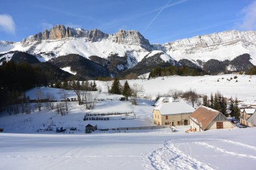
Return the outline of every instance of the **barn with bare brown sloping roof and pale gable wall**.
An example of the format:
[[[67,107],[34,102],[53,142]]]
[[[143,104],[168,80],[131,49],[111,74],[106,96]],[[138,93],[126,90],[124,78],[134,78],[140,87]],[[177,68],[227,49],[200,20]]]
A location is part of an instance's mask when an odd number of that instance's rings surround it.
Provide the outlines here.
[[[198,107],[189,118],[191,129],[195,131],[236,127],[221,112],[203,105]]]

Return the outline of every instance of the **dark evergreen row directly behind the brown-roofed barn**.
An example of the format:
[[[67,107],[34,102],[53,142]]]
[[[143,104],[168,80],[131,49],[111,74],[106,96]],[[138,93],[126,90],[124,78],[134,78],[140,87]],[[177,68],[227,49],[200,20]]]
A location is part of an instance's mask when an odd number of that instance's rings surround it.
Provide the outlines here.
[[[237,120],[240,116],[240,109],[238,107],[238,99],[237,97],[235,100],[230,97],[227,99],[220,92],[216,92],[214,95],[210,94],[208,97],[207,95],[203,96],[203,105],[205,107],[212,108],[216,111],[221,112],[226,117],[230,114],[230,117],[235,117]]]

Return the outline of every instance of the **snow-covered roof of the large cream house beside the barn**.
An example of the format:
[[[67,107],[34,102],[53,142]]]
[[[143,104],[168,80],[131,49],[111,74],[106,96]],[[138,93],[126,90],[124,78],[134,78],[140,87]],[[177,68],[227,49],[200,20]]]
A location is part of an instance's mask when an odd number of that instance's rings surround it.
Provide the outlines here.
[[[184,103],[183,101],[162,103],[158,107],[156,107],[155,110],[158,110],[162,115],[192,113],[193,111],[195,111],[193,107],[191,107],[187,103]]]

